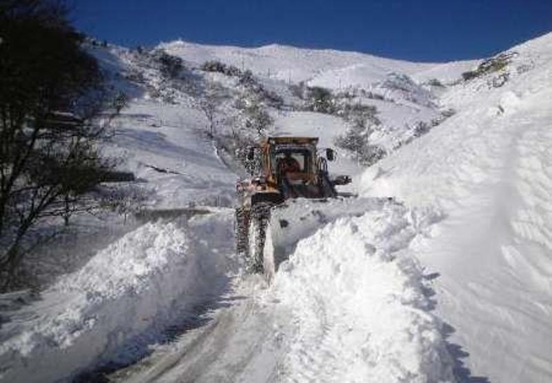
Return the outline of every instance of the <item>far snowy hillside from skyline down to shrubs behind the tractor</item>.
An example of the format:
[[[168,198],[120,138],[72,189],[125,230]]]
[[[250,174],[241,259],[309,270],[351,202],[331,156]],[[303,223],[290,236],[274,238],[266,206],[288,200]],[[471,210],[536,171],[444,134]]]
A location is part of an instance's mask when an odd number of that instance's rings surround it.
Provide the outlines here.
[[[298,100],[288,95],[288,88],[297,84],[327,88],[337,97],[346,95],[349,104],[374,106],[382,124],[373,126],[375,131],[366,134],[386,150],[408,141],[420,122],[431,124],[442,118],[446,108],[433,92],[428,91],[428,81],[449,84],[478,63],[474,60],[411,63],[357,52],[309,50],[277,44],[238,48],[174,41],[161,43],[159,47],[183,59],[190,68],[198,68],[207,61],[220,61],[237,69],[250,70],[263,86],[282,95],[292,108],[297,108]],[[324,125],[320,127],[325,129]],[[333,132],[331,137],[335,136]]]

